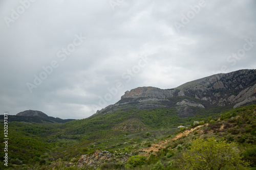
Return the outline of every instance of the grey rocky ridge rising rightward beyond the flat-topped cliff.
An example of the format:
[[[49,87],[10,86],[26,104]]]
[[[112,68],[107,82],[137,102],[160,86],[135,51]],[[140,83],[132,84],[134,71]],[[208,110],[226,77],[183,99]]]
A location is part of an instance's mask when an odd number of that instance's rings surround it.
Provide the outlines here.
[[[229,106],[254,102],[256,69],[244,69],[228,74],[218,74],[185,83],[176,89],[211,105]]]

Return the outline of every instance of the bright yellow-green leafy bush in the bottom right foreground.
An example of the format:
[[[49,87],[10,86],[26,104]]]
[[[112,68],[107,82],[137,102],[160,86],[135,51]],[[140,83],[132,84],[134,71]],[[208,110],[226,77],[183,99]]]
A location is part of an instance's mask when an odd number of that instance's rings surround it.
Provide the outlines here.
[[[181,169],[245,169],[249,163],[242,160],[237,143],[216,141],[214,137],[207,140],[196,139],[191,147],[183,151],[177,163]]]

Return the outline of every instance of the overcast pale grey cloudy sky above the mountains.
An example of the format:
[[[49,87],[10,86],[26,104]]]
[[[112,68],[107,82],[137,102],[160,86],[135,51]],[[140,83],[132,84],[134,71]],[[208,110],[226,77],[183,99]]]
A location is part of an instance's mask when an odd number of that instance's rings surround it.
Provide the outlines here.
[[[256,68],[256,1],[0,1],[0,114],[82,119],[125,91]]]

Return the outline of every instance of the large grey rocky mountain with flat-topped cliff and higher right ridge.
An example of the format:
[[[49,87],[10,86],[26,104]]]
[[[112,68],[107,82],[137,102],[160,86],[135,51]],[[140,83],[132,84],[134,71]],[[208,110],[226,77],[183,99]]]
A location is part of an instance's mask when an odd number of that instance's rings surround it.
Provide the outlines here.
[[[194,116],[196,108],[236,108],[256,103],[256,69],[243,69],[187,82],[172,89],[138,87],[121,100],[97,111],[112,113],[129,109],[175,107],[179,116]]]

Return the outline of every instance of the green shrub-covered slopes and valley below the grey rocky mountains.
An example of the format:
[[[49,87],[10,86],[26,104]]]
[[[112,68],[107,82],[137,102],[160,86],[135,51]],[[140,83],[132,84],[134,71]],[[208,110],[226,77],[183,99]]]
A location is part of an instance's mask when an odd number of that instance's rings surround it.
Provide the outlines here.
[[[216,155],[210,149],[220,150],[214,159],[215,167],[253,167],[256,166],[255,113],[256,106],[251,105],[181,118],[172,108],[159,108],[98,114],[58,124],[9,122],[8,163],[12,169],[94,169],[87,164],[76,166],[80,156],[91,157],[96,151],[108,151],[115,156],[105,158],[97,168],[180,169],[188,165],[185,160],[191,155],[195,159],[190,162],[199,158],[195,152],[200,149],[199,143],[203,143],[200,151],[207,151],[205,160],[209,153]],[[3,127],[3,122],[0,124]],[[185,128],[177,128],[180,125]],[[3,134],[2,129],[0,132]],[[4,148],[4,141],[0,140]],[[223,156],[222,151],[229,155]],[[0,154],[3,167],[3,151]],[[202,157],[205,153],[200,154]],[[225,157],[233,158],[236,164]],[[180,167],[182,161],[184,167]],[[224,163],[217,165],[219,161]]]

